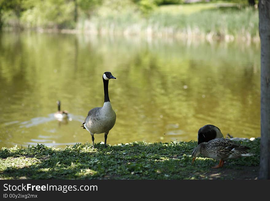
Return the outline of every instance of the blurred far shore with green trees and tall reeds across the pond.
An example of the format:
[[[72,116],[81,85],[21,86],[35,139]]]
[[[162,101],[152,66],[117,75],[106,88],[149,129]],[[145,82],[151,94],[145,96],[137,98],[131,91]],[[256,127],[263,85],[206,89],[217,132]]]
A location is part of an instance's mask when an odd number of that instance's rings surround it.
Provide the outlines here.
[[[258,38],[256,5],[254,0],[0,0],[0,28]]]

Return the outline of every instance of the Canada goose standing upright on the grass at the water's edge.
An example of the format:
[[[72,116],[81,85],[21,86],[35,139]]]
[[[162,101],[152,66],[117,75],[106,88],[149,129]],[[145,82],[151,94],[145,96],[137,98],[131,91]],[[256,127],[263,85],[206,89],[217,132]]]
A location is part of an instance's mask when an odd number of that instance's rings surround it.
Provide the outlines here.
[[[86,129],[90,132],[92,136],[93,148],[94,146],[94,134],[105,133],[105,147],[107,142],[107,136],[110,131],[114,127],[116,121],[116,114],[111,106],[109,93],[108,93],[108,85],[110,79],[116,79],[111,72],[103,73],[102,80],[104,86],[104,104],[103,107],[95,107],[91,109],[87,117],[85,118],[83,125],[83,129]]]

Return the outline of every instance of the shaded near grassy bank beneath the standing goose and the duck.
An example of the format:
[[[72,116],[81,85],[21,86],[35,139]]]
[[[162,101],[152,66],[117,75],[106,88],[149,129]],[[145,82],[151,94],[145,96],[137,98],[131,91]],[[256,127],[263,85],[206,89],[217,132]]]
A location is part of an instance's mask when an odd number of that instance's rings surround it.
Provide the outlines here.
[[[1,179],[255,179],[260,163],[260,140],[237,142],[254,156],[218,162],[198,157],[191,165],[197,142],[134,142],[104,148],[75,144],[65,148],[42,144],[28,148],[2,148]]]

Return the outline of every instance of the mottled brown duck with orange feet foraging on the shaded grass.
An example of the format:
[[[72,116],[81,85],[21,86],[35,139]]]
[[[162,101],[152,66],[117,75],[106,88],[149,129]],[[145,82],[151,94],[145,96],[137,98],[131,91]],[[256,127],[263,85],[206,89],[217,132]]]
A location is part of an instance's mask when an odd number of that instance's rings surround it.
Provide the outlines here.
[[[204,157],[220,160],[217,166],[212,167],[219,168],[223,166],[224,160],[252,156],[253,154],[248,153],[249,149],[249,147],[235,144],[229,139],[218,138],[210,140],[209,142],[200,143],[194,148],[192,151],[192,164],[199,154],[203,154]]]

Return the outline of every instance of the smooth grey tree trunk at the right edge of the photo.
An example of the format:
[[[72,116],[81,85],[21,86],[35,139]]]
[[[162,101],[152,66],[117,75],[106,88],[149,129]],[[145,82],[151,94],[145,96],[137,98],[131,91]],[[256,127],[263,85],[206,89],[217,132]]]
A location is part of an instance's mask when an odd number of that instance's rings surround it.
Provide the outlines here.
[[[259,1],[261,50],[260,75],[260,173],[259,179],[270,179],[270,1]]]

